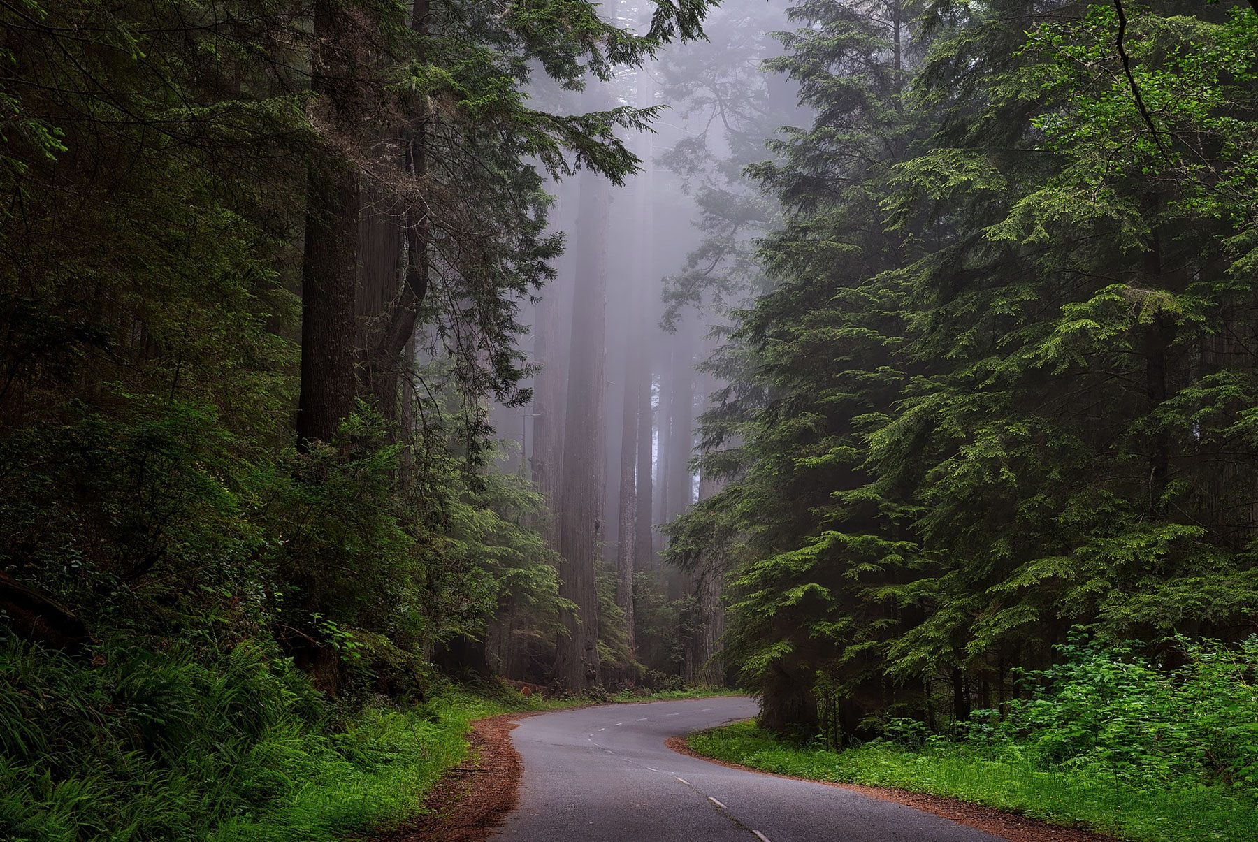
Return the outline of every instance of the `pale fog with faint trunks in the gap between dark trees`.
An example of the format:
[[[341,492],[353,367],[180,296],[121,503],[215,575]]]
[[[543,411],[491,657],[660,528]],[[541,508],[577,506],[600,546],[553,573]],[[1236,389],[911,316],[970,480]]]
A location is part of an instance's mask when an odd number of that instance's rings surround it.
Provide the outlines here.
[[[633,25],[638,10],[619,14]],[[491,415],[515,442],[503,467],[536,482],[552,512],[561,595],[579,607],[564,618],[570,637],[554,672],[570,687],[633,683],[634,658],[687,680],[723,678],[718,565],[667,568],[657,527],[718,487],[693,458],[697,419],[723,384],[697,366],[720,349],[728,310],[764,283],[751,254],[775,208],[742,167],[770,156],[765,141],[781,126],[805,122],[793,86],[760,67],[781,52],[770,33],[788,26],[784,6],[740,0],[712,13],[707,42],[669,45],[580,93],[535,93],[570,112],[665,106],[653,133],[624,137],[642,161],[624,185],[587,171],[550,185],[566,249],[523,320],[532,400]],[[581,620],[599,610],[599,569],[614,570],[623,614],[600,618],[604,638],[609,624],[623,628],[615,665],[598,662],[598,624]],[[523,676],[540,656],[513,646],[504,623],[491,660]]]

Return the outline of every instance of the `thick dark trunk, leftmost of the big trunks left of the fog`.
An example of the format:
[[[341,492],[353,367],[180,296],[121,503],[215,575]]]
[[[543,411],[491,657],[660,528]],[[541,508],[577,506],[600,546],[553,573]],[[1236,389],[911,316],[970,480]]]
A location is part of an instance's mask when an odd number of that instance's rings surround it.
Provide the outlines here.
[[[335,4],[314,6],[311,91],[335,122],[352,118],[351,21]],[[353,410],[353,297],[359,268],[359,176],[327,150],[309,167],[302,262],[302,370],[297,442],[331,442]]]

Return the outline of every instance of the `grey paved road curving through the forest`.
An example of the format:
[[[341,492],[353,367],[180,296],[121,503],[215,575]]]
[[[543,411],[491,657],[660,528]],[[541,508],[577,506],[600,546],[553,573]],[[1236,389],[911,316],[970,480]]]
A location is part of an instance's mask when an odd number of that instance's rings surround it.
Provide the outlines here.
[[[727,769],[664,739],[756,714],[749,699],[613,705],[522,720],[506,842],[1000,842],[903,804]]]

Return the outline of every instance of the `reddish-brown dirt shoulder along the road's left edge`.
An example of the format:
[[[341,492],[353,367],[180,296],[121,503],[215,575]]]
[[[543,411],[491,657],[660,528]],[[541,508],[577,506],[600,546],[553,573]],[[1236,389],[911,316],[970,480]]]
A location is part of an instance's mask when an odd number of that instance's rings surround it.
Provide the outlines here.
[[[482,842],[516,808],[523,765],[511,730],[526,714],[502,714],[472,724],[468,759],[454,766],[424,799],[418,819],[376,842]]]

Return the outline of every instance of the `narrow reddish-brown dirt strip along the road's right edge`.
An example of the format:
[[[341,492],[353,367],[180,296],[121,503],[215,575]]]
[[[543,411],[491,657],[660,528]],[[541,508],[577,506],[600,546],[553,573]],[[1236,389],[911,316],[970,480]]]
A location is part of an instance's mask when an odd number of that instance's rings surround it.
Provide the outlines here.
[[[772,774],[770,772],[752,769],[751,766],[743,766],[737,763],[726,763],[725,760],[713,760],[712,758],[703,756],[697,751],[692,751],[691,746],[686,745],[686,739],[681,736],[671,736],[664,741],[664,744],[678,754],[686,754],[692,758],[707,760],[708,763],[716,763],[731,769],[746,769],[747,772],[755,772],[761,775]],[[809,778],[795,778],[794,775],[774,777],[790,778],[793,780],[809,780]],[[820,783],[838,789],[850,789],[860,793],[862,795],[871,795],[883,800],[908,804],[910,807],[915,807],[925,813],[942,816],[944,818],[951,819],[957,824],[965,824],[982,831],[984,833],[999,836],[1009,839],[1009,842],[1116,842],[1112,836],[1102,836],[1099,833],[1092,833],[1091,831],[1083,831],[1079,828],[1049,824],[1048,822],[1042,822],[1037,818],[1027,818],[1025,816],[1001,813],[1000,811],[991,809],[990,807],[969,804],[962,800],[956,800],[955,798],[925,795],[922,793],[911,793],[905,789],[883,789],[881,787],[862,787],[859,784],[839,784],[830,780],[814,780],[813,783]]]

